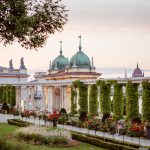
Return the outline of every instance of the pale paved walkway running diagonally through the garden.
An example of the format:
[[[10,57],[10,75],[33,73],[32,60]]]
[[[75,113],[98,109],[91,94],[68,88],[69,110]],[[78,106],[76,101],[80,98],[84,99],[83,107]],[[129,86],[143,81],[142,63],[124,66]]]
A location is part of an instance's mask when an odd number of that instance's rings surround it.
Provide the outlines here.
[[[7,119],[12,119],[14,118],[13,115],[5,115],[5,114],[0,114],[0,122],[7,122]],[[17,117],[16,117],[17,118]],[[18,117],[21,119],[21,117]],[[26,121],[26,119],[24,118],[24,120]],[[33,118],[27,119],[28,122],[34,122]],[[39,120],[36,119],[35,120],[35,124],[39,124]],[[40,120],[40,125],[44,125],[44,121]],[[104,132],[100,132],[97,131],[95,132],[94,130],[88,130],[85,128],[78,128],[78,127],[73,127],[73,126],[68,126],[68,125],[58,125],[58,127],[60,128],[65,128],[71,131],[76,131],[79,133],[86,133],[86,134],[90,134],[90,135],[97,135],[97,136],[101,136],[103,138],[111,138],[111,139],[115,139],[118,141],[125,141],[125,142],[129,142],[129,143],[135,143],[135,144],[140,144],[141,146],[150,146],[150,140],[148,139],[143,139],[143,138],[132,138],[132,137],[128,137],[128,136],[122,136],[122,135],[112,135],[109,133],[104,133]]]

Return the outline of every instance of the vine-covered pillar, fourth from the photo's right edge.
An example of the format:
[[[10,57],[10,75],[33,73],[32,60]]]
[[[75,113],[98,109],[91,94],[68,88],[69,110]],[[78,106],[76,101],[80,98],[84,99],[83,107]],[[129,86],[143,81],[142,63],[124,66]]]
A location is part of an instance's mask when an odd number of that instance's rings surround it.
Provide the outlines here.
[[[111,85],[106,84],[105,81],[98,81],[98,85],[100,85],[100,108],[101,112],[110,113],[111,110],[111,100],[110,100],[110,92],[111,92]]]

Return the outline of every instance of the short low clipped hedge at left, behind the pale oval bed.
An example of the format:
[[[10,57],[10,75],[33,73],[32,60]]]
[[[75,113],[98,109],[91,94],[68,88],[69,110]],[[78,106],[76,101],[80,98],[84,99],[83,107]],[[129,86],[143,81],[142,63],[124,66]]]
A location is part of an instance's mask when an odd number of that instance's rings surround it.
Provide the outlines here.
[[[7,119],[7,122],[8,124],[19,126],[19,127],[27,127],[29,125],[32,125],[32,123],[28,123],[20,119]]]

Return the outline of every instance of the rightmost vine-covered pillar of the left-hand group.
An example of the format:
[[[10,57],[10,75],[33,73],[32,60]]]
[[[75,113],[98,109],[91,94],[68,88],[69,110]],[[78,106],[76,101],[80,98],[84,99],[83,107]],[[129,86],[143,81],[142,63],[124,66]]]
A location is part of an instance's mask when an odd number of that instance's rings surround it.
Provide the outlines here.
[[[16,87],[12,86],[10,89],[10,105],[14,107],[16,105]]]

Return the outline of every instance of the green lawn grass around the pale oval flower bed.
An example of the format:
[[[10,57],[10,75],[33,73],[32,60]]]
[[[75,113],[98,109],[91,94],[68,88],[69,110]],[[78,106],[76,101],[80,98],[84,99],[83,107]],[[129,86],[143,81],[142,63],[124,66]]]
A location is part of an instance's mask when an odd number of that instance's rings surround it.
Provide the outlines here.
[[[7,137],[7,135],[12,134],[16,129],[19,127],[9,125],[7,123],[0,123],[0,137]],[[10,141],[9,142],[14,142]],[[90,150],[90,148],[93,148],[92,150],[104,150],[103,148],[96,147],[91,144],[80,142],[80,145],[77,147],[64,147],[64,148],[58,148],[58,147],[47,147],[47,146],[39,146],[39,145],[31,145],[27,144],[25,142],[19,141],[19,144],[23,144],[24,147],[28,150]]]

